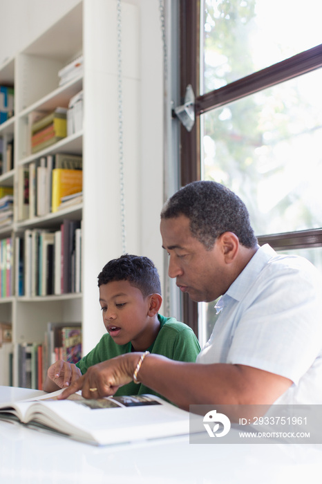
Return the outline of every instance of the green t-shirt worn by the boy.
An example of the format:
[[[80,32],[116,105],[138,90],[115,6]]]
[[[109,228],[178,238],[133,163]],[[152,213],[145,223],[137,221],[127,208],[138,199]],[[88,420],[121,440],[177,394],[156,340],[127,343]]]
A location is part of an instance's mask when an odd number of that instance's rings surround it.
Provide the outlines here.
[[[196,362],[196,357],[200,352],[200,344],[192,329],[187,324],[178,322],[174,317],[158,315],[158,319],[161,326],[160,331],[155,338],[155,342],[150,348],[147,348],[147,351],[166,356],[171,358],[171,360]],[[132,349],[131,342],[122,345],[116,344],[113,338],[106,333],[95,348],[88,355],[84,356],[82,360],[79,360],[76,366],[84,375],[90,366],[115,356],[124,355],[124,353],[131,353]],[[162,395],[149,389],[144,384],[135,384],[134,382],[120,387],[115,395],[142,395],[142,393],[151,393],[152,395],[162,397]]]

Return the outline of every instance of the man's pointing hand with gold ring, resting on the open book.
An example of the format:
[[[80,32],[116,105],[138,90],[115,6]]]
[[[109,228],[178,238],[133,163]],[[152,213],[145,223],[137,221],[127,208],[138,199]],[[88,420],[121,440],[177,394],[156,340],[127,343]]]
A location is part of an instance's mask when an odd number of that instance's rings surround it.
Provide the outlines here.
[[[111,360],[97,363],[73,382],[59,396],[59,400],[82,390],[84,398],[102,398],[114,395],[122,385],[133,380],[133,373],[142,353],[126,353]]]

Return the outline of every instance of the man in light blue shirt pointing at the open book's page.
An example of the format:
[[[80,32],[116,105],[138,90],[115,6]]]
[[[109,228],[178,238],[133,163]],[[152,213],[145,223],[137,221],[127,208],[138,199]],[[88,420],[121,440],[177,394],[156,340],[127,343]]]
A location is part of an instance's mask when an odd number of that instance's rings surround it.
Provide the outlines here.
[[[196,363],[131,353],[88,369],[62,393],[112,395],[138,380],[189,404],[322,403],[322,281],[301,257],[258,246],[244,203],[210,181],[180,189],[161,213],[169,276],[193,301],[220,299]]]

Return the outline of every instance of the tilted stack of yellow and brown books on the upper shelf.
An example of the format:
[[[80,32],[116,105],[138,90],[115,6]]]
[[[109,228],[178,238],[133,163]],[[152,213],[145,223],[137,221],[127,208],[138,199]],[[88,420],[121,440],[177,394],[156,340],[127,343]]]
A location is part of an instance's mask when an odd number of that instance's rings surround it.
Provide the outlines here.
[[[66,108],[58,107],[32,123],[31,152],[37,153],[67,136]]]

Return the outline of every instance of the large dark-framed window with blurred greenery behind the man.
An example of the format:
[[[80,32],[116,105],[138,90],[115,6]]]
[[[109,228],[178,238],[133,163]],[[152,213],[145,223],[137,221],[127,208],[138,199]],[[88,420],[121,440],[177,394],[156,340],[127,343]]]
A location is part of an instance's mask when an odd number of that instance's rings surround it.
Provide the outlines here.
[[[196,95],[195,126],[181,129],[182,185],[227,185],[261,245],[322,270],[319,0],[185,0],[180,9],[181,93],[191,84]],[[213,303],[184,305],[202,343],[214,313]]]

